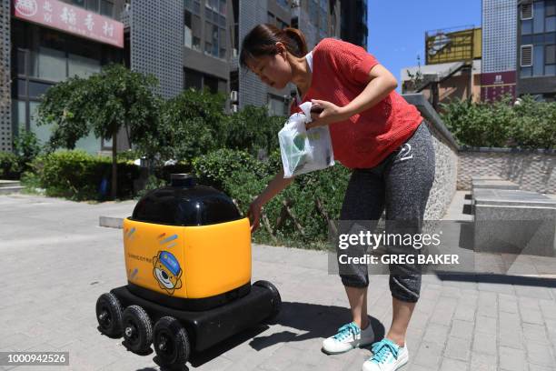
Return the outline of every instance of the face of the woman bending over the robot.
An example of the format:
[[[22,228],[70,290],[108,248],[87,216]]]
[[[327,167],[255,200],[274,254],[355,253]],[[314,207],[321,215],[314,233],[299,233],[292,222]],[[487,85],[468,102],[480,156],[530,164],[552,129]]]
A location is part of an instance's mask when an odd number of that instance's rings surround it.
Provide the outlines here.
[[[251,58],[247,63],[249,69],[259,76],[264,84],[276,89],[283,89],[292,78],[292,67],[287,61],[286,53],[281,43],[278,43],[278,53]]]

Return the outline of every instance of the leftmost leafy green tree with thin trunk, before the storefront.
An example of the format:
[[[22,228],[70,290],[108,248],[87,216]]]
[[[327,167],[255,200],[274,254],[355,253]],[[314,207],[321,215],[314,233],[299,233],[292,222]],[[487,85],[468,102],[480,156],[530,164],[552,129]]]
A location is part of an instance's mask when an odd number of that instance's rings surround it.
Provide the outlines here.
[[[72,77],[54,85],[38,108],[38,123],[54,124],[51,149],[73,149],[80,138],[93,132],[112,139],[112,190],[117,190],[117,134],[124,130],[130,145],[154,157],[160,136],[158,112],[161,98],[153,75],[128,70],[124,65],[106,65],[99,74],[84,79]]]

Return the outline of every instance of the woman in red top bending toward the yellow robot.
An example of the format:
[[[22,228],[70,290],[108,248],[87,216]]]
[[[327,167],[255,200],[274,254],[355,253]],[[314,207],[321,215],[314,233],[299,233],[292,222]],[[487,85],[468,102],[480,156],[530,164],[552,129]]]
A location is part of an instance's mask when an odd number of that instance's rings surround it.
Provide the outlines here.
[[[396,79],[362,47],[325,38],[307,53],[303,34],[257,25],[244,37],[241,65],[263,83],[283,89],[293,83],[298,99],[311,100],[319,113],[307,128],[329,125],[334,159],[352,169],[340,220],[378,221],[385,209],[388,221],[420,233],[424,209],[434,179],[432,137],[419,111],[394,89]],[[249,208],[252,230],[261,209],[293,179],[276,175]],[[363,254],[353,250],[352,254]],[[367,266],[341,266],[340,276],[352,310],[352,322],[323,341],[329,354],[372,344],[367,317]],[[421,275],[415,266],[390,266],[392,326],[372,344],[363,370],[395,370],[408,360],[405,334],[420,295]]]

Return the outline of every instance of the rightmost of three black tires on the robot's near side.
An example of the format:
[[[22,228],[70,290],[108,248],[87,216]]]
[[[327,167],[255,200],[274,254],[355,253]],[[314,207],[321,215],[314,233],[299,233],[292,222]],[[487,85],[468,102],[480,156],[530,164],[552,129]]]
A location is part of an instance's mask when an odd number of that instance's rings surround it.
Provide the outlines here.
[[[170,340],[170,352],[160,347],[162,336]],[[153,342],[160,366],[184,366],[191,356],[191,343],[187,331],[173,316],[164,316],[156,321]]]

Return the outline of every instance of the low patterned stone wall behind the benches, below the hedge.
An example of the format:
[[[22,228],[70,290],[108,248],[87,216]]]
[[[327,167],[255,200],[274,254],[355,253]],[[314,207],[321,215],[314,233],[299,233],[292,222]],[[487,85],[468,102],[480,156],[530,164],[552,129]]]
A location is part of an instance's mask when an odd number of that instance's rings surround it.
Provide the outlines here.
[[[498,175],[522,190],[556,194],[556,151],[461,147],[457,189],[471,190],[472,176]]]

